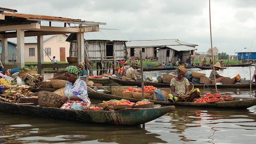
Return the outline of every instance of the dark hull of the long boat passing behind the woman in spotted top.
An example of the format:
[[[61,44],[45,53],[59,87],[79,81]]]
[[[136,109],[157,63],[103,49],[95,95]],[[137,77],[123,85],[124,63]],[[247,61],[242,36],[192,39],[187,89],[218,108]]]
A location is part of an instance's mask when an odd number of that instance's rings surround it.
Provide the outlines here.
[[[128,86],[141,86],[141,81],[126,81],[116,77],[110,77],[113,81],[118,84],[128,85]],[[170,84],[167,83],[152,83],[152,82],[144,82],[144,85],[152,85],[155,87],[170,87]],[[214,84],[194,84],[194,88],[208,88],[208,87],[215,87]],[[252,84],[252,87],[256,87],[256,84]],[[218,84],[217,88],[250,88],[250,84]]]

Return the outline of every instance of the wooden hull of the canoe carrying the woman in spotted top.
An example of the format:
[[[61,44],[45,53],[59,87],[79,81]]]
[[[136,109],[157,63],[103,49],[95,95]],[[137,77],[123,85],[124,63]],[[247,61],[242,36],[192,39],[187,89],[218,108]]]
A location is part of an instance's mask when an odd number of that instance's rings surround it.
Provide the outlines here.
[[[103,99],[103,100],[130,100],[132,102],[137,102],[140,99],[134,99],[134,98],[127,98],[127,97],[121,97],[121,96],[115,96],[112,94],[105,94],[105,93],[99,93],[88,90],[88,96],[89,98],[96,98],[96,99]],[[111,91],[111,89],[109,89]],[[160,104],[162,106],[189,106],[189,107],[208,107],[208,108],[250,108],[254,105],[256,105],[256,98],[244,98],[244,97],[234,97],[233,101],[224,101],[224,102],[215,102],[215,103],[196,103],[196,102],[166,102],[166,101],[158,101],[158,100],[149,100],[151,102],[154,102],[154,104]]]

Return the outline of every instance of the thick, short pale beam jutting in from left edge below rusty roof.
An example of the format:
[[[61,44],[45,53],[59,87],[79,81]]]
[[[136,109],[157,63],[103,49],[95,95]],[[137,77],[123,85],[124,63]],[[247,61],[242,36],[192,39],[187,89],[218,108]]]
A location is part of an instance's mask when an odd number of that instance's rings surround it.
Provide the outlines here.
[[[17,30],[17,29],[40,29],[40,24],[26,24],[26,25],[12,25],[12,26],[2,26],[0,27],[0,31],[12,31],[12,30]]]

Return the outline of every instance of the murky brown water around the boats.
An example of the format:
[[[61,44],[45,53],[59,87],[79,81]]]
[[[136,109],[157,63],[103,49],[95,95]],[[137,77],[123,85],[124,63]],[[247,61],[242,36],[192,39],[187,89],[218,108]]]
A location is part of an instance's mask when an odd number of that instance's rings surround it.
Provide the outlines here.
[[[192,70],[199,70],[197,68]],[[252,67],[252,72],[254,68]],[[158,76],[175,71],[145,72]],[[210,70],[200,70],[209,76]],[[249,67],[219,71],[249,78]],[[47,74],[46,76],[51,76]],[[53,75],[52,75],[53,76]],[[202,94],[214,89],[200,89]],[[256,89],[219,89],[234,97],[254,97]],[[100,100],[93,100],[97,104]],[[101,126],[0,114],[0,143],[254,143],[256,106],[248,109],[176,107],[142,127]]]

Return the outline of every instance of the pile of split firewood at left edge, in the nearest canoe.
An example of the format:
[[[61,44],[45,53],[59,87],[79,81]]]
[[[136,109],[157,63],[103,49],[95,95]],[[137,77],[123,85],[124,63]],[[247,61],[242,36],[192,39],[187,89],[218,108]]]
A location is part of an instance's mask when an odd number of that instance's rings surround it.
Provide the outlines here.
[[[18,103],[21,98],[33,93],[29,91],[28,85],[6,85],[0,94],[0,100],[10,103]]]

